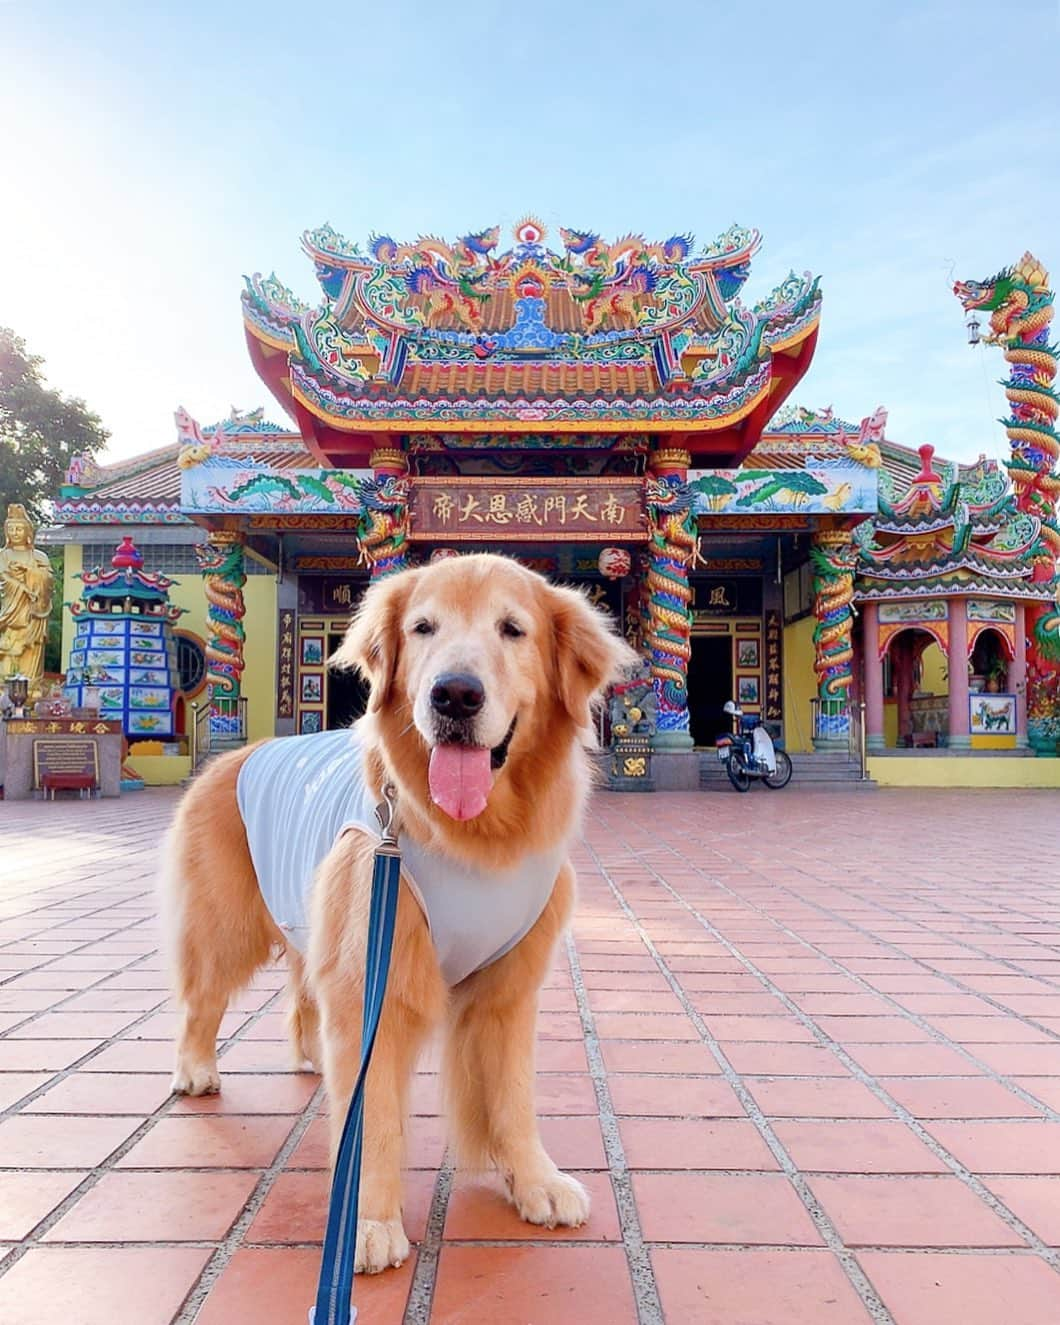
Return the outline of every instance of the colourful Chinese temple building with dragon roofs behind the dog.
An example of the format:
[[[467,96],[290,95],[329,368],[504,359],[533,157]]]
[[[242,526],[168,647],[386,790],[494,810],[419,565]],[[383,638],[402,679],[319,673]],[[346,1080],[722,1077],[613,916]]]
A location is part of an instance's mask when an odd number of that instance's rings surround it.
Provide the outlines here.
[[[745,302],[759,242],[550,241],[533,219],[506,244],[313,231],[315,305],[276,277],[242,297],[290,421],[180,409],[170,447],[76,462],[68,576],[134,526],[187,608],[183,693],[208,696],[219,741],[356,717],[360,682],[326,660],[366,586],[476,549],[621,621],[651,668],[660,790],[698,784],[729,698],[795,753],[845,758],[864,705],[876,751],[1019,754],[1055,588],[1048,513],[1022,493],[1040,504],[1047,476],[946,465],[888,439],[882,409],[787,404],[820,292],[792,274]]]

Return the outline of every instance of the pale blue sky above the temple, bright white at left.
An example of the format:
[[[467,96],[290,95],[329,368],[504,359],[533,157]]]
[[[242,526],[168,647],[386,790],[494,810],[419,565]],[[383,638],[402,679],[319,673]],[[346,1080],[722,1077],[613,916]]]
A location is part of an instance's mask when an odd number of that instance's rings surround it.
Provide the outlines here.
[[[1060,264],[1055,0],[924,4],[0,0],[0,325],[113,433],[266,404],[241,274],[298,237],[765,235],[749,295],[822,274],[798,399],[1000,454],[998,351],[954,277]]]

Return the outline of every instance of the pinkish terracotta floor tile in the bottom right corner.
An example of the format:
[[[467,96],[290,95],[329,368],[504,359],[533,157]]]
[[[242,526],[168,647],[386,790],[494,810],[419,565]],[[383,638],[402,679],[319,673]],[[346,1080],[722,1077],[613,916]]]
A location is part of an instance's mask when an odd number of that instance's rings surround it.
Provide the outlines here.
[[[1052,1325],[1056,1272],[1035,1257],[859,1252],[896,1325]]]

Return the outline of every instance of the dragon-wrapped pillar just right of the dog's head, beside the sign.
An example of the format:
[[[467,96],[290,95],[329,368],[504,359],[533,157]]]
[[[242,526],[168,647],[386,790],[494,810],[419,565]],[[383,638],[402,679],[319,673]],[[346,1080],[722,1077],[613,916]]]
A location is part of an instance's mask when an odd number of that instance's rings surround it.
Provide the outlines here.
[[[696,494],[676,476],[648,480],[648,645],[659,730],[688,730]]]

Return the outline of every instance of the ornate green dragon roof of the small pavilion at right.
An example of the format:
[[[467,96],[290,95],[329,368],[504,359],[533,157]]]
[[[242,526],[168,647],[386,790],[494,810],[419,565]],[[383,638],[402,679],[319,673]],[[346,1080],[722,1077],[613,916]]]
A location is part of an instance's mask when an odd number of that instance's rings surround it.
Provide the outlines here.
[[[855,530],[861,599],[991,594],[1049,599],[1034,582],[1035,560],[1048,556],[1041,522],[1016,510],[995,461],[971,472],[935,464],[920,448],[920,469],[898,497],[889,474],[880,485],[880,514]]]

